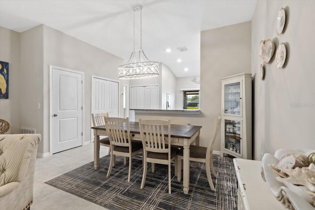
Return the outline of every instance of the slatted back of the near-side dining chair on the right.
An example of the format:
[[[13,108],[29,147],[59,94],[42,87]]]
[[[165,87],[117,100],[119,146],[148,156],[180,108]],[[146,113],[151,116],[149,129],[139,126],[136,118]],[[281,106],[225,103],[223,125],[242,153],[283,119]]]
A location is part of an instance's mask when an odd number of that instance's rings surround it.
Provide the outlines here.
[[[170,153],[171,120],[139,119],[139,127],[143,147],[145,150],[160,153]],[[166,127],[167,130],[164,130]],[[166,138],[165,135],[167,135]]]

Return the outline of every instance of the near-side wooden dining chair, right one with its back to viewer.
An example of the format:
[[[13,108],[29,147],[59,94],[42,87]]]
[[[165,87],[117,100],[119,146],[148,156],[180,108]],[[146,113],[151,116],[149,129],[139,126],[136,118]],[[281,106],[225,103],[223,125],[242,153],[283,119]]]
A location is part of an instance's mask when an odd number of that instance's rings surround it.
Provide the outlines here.
[[[143,189],[145,185],[148,162],[164,164],[168,165],[168,193],[171,194],[171,161],[177,158],[179,150],[171,147],[171,120],[139,119],[139,127],[144,161],[140,188]],[[167,129],[164,130],[164,128]]]

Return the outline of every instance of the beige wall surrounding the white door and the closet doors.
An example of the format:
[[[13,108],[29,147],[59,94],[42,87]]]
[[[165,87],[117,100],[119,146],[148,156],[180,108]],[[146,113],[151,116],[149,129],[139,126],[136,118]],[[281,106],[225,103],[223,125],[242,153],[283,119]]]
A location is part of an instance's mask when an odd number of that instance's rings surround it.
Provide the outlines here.
[[[84,140],[91,141],[91,91],[92,75],[118,81],[118,66],[123,60],[90,44],[66,35],[58,30],[42,26],[44,32],[44,61],[43,61],[43,123],[45,127],[45,143],[49,139],[49,65],[73,69],[84,72],[85,104],[84,106]],[[129,85],[128,80],[119,80],[120,90],[123,85]],[[119,116],[123,116],[122,97],[119,97]],[[49,151],[45,144],[43,152]]]

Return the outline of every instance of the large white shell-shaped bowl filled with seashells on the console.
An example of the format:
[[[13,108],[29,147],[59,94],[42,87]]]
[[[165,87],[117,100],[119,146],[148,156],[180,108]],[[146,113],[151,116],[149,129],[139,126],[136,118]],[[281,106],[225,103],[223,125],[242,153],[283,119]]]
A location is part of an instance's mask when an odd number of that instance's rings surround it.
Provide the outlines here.
[[[271,193],[286,209],[315,210],[315,192],[313,191],[315,189],[313,183],[315,181],[315,165],[310,164],[308,167],[300,168],[299,166],[305,164],[305,157],[291,155],[303,154],[308,156],[312,152],[315,150],[280,149],[274,155],[265,153],[262,157],[261,173],[264,175]],[[285,157],[289,158],[284,159]],[[291,167],[292,165],[293,167]]]

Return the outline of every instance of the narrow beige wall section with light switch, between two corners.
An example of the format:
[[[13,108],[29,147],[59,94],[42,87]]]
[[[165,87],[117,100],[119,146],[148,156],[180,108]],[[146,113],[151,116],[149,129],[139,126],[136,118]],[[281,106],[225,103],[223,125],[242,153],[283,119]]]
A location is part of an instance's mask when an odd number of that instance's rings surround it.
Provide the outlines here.
[[[42,134],[38,151],[43,150],[47,139],[43,136],[43,31],[35,27],[21,33],[20,69],[20,126],[36,129]],[[40,108],[38,108],[40,104]],[[14,110],[12,110],[14,112]]]

